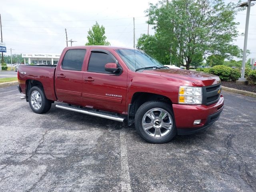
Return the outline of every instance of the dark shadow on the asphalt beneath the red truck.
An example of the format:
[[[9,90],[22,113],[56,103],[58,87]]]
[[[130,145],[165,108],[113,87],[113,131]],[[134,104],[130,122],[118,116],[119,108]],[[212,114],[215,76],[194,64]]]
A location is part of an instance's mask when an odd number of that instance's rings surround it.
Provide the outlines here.
[[[49,112],[46,113],[49,116],[52,128],[63,128],[63,129],[72,129],[72,130],[86,130],[90,129],[102,129],[102,130],[121,130],[124,128],[126,134],[132,137],[137,142],[143,142],[150,144],[143,140],[138,133],[136,132],[134,124],[128,126],[126,123],[117,122],[114,120],[108,120],[105,118],[100,118],[96,116],[90,116],[86,114],[81,114],[77,112],[71,112],[67,110],[62,110],[55,108],[55,104],[52,105],[52,108]],[[186,145],[186,144],[193,144],[193,143],[204,143],[207,142],[209,137],[213,137],[214,135],[214,125],[209,127],[206,130],[201,132],[191,134],[191,135],[184,135],[179,136],[177,135],[174,137],[173,140],[168,142],[167,144],[178,144],[178,145]]]

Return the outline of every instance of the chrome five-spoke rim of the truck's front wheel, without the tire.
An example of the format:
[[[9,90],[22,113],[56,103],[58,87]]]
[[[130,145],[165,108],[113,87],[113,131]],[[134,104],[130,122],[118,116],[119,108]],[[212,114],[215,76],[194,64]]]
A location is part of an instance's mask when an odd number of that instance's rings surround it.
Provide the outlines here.
[[[172,130],[172,116],[162,108],[150,109],[142,118],[142,128],[153,138],[162,138]]]

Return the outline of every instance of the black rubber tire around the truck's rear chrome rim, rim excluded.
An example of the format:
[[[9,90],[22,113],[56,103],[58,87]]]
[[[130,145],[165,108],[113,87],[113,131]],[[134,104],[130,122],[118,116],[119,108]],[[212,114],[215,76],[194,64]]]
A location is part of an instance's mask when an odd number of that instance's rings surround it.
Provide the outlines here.
[[[40,107],[38,107],[38,109],[36,109],[35,107],[32,106],[33,99],[31,100],[31,97],[33,98],[32,93],[35,93],[35,92],[38,92],[40,95],[40,98],[41,98],[41,105],[40,105]],[[46,98],[46,96],[44,94],[44,89],[40,86],[34,86],[29,90],[28,102],[29,102],[29,105],[30,105],[30,108],[32,109],[32,111],[34,111],[35,113],[38,113],[38,114],[48,112],[52,106],[52,102]]]

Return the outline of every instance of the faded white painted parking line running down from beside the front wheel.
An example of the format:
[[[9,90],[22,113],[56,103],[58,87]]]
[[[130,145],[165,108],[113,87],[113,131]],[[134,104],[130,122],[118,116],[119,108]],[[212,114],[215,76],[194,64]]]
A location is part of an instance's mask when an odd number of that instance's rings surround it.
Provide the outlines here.
[[[120,143],[121,143],[121,191],[122,192],[131,192],[131,179],[129,172],[129,164],[128,164],[128,155],[127,155],[127,144],[126,144],[126,132],[125,129],[122,128],[120,130]]]

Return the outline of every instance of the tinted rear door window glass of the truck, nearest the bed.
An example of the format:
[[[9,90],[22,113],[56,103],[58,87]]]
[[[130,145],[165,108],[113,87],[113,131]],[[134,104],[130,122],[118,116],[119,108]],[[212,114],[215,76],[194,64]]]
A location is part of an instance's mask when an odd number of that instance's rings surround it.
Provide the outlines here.
[[[68,50],[62,61],[62,68],[66,70],[81,71],[86,50],[72,49]]]

